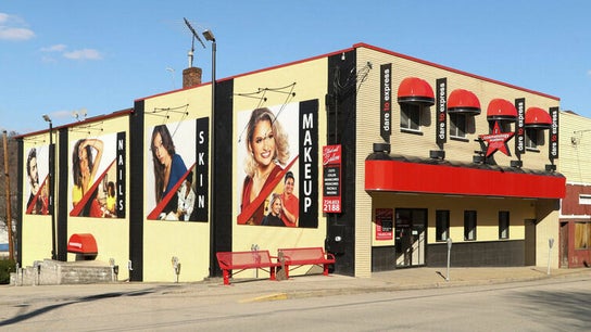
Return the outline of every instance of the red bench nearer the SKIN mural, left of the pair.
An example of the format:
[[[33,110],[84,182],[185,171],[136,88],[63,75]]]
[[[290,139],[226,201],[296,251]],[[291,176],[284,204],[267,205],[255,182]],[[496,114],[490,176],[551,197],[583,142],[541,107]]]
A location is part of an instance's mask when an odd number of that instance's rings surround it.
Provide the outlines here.
[[[230,284],[230,277],[246,269],[268,269],[269,280],[276,280],[275,270],[281,264],[268,251],[219,252],[215,254],[224,276],[224,284]],[[231,272],[232,270],[239,270]]]

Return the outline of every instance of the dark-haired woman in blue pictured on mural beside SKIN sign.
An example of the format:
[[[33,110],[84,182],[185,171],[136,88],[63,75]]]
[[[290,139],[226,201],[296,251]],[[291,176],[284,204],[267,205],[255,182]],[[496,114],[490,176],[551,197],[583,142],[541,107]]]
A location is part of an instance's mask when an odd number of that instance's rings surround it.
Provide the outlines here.
[[[166,125],[159,125],[152,131],[151,149],[154,163],[154,193],[156,204],[180,181],[187,166],[175,152],[173,137]]]

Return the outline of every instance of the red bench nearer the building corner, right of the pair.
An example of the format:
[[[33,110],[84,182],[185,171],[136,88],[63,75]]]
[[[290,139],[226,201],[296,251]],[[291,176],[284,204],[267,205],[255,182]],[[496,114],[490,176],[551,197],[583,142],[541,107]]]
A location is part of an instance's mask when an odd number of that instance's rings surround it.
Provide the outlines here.
[[[328,266],[335,264],[335,255],[325,253],[323,247],[290,247],[277,250],[279,260],[285,260],[286,279],[289,279],[289,267],[304,265],[323,266],[323,274],[328,276]]]

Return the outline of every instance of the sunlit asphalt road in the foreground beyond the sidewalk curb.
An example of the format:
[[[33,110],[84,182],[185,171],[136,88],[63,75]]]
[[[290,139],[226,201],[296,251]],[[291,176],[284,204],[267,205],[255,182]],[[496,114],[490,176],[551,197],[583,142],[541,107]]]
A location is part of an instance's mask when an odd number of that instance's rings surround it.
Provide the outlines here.
[[[0,306],[8,331],[590,331],[591,279],[281,301],[178,288],[39,297]]]

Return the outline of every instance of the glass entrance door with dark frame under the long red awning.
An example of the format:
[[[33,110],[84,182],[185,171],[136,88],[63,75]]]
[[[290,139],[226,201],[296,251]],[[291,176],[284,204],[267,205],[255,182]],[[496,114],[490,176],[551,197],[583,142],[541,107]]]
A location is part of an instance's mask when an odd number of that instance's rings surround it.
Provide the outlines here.
[[[425,265],[427,209],[397,208],[395,259],[397,267]]]

